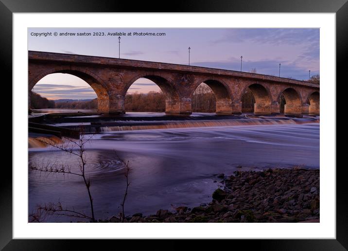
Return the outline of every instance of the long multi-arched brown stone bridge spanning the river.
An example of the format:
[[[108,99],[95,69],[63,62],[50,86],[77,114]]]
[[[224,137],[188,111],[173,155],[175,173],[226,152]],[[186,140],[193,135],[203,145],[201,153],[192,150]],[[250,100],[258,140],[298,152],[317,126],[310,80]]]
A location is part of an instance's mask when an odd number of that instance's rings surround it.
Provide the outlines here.
[[[242,112],[242,96],[249,88],[254,112],[277,114],[284,95],[286,114],[319,114],[319,85],[306,81],[188,65],[130,59],[28,52],[29,93],[51,73],[69,73],[85,80],[96,92],[100,113],[124,113],[124,97],[139,78],[155,82],[166,97],[166,113],[190,114],[193,92],[207,84],[216,97],[216,113]],[[30,94],[29,94],[30,104]]]

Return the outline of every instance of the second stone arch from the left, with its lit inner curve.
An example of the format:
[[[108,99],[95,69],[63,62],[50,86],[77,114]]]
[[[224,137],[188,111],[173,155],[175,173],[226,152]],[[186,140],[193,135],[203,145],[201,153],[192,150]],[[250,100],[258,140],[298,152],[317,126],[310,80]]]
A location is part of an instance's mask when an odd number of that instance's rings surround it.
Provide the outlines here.
[[[122,96],[124,97],[127,93],[127,90],[131,87],[131,85],[137,81],[139,78],[146,78],[148,80],[151,80],[154,82],[163,92],[166,100],[166,110],[165,112],[170,113],[180,113],[181,107],[180,107],[180,96],[178,91],[176,90],[173,81],[169,79],[168,77],[165,77],[161,74],[138,74],[137,76],[133,77],[130,81],[127,82],[125,85]]]

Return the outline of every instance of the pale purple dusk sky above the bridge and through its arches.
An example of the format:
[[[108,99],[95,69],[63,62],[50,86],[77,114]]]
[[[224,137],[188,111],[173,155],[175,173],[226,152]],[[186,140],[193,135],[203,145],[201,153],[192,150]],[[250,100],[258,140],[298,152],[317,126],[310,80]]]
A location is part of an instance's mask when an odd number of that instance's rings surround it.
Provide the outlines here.
[[[52,33],[43,36],[43,33]],[[58,36],[53,33],[57,32]],[[75,36],[59,36],[59,33]],[[103,33],[104,36],[76,36],[77,33]],[[299,80],[319,74],[319,29],[312,28],[30,28],[28,50],[119,57],[118,36],[121,36],[121,58],[188,64],[291,77]],[[137,33],[137,34],[135,34]],[[165,33],[165,36],[141,35]],[[38,36],[41,34],[41,36]],[[129,35],[131,34],[131,35]],[[62,73],[42,78],[33,89],[48,99],[92,99],[94,91],[82,79]],[[137,80],[128,90],[132,92],[159,91],[147,79]]]

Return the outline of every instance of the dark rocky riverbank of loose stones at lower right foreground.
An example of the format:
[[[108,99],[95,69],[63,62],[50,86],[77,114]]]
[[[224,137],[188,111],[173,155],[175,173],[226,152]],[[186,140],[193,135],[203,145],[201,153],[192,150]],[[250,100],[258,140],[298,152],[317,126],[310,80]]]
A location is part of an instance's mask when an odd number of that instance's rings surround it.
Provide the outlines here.
[[[221,179],[212,201],[175,212],[134,214],[124,222],[319,222],[319,170],[277,168],[236,171]],[[100,222],[120,222],[116,216]]]

